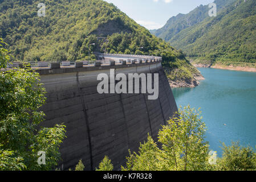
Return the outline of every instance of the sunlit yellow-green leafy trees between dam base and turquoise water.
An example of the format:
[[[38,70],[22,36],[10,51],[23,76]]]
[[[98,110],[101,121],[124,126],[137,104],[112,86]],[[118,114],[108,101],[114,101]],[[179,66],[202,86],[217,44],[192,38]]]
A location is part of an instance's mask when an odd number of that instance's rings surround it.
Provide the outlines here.
[[[185,107],[162,126],[159,132],[159,144],[149,136],[148,142],[140,144],[139,153],[130,154],[124,170],[204,170],[210,167],[209,144],[204,142],[205,123],[200,113]]]

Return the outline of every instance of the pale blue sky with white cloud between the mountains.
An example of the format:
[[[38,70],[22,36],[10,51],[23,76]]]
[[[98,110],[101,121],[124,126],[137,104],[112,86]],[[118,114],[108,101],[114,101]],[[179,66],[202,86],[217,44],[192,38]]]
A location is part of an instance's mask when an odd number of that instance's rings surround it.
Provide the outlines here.
[[[111,2],[130,18],[148,29],[161,28],[179,13],[189,13],[197,6],[214,0],[105,0]]]

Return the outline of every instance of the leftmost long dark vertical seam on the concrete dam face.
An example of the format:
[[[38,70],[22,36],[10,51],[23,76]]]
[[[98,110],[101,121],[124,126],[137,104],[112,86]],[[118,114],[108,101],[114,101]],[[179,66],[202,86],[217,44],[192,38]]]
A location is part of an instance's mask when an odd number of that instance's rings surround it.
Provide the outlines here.
[[[83,112],[84,112],[84,118],[86,120],[86,129],[87,129],[87,137],[88,137],[90,160],[91,160],[91,171],[93,171],[92,143],[91,143],[90,127],[89,127],[88,117],[87,117],[87,113],[86,113],[86,106],[84,105],[84,97],[83,97],[83,94],[82,94],[82,88],[81,88],[80,83],[79,83],[78,72],[76,72],[76,81],[78,82],[78,90],[80,92],[80,97],[81,97]]]

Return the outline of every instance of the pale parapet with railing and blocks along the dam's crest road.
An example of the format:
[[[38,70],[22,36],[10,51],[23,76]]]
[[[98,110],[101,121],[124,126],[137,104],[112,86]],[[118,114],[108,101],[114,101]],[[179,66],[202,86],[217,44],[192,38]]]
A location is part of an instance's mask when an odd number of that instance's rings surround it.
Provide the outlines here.
[[[99,60],[77,60],[77,61],[56,61],[52,62],[27,62],[32,69],[58,69],[58,68],[83,68],[83,67],[104,67],[113,65],[160,63],[162,57],[146,55],[121,55],[121,54],[99,54]],[[24,67],[24,63],[13,62],[7,65],[7,69]]]

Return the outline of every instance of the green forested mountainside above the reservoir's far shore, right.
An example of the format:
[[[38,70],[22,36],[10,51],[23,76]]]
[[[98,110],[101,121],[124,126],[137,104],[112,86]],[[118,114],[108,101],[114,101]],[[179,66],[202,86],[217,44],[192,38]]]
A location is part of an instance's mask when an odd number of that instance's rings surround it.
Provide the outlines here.
[[[216,17],[206,16],[201,22],[184,28],[173,35],[169,43],[201,63],[255,67],[256,2],[228,0],[223,1],[226,3],[221,9],[218,3],[222,1],[215,2]]]

